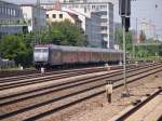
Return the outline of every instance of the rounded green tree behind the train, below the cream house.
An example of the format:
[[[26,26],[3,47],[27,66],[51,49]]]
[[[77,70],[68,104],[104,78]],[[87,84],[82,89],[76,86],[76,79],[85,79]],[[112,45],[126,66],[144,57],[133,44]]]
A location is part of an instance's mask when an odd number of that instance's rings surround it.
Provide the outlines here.
[[[69,21],[55,22],[42,37],[44,43],[58,45],[85,45],[85,37],[82,30]]]

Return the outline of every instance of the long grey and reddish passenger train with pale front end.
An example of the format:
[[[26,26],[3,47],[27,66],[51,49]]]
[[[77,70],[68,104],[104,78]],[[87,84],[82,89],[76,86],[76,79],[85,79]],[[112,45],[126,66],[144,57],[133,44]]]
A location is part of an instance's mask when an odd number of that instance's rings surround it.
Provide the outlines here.
[[[119,63],[122,60],[122,51],[112,49],[39,44],[35,45],[33,63],[36,68],[97,63]]]

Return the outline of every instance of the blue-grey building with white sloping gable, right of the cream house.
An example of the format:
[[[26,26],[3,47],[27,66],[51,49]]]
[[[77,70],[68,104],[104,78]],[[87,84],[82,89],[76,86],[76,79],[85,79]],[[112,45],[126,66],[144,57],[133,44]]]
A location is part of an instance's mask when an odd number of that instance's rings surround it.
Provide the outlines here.
[[[81,19],[81,28],[86,37],[86,45],[92,48],[103,48],[102,35],[100,35],[100,17],[95,12],[83,14],[80,9],[79,11],[73,11],[71,9],[63,8],[64,11],[78,15]]]

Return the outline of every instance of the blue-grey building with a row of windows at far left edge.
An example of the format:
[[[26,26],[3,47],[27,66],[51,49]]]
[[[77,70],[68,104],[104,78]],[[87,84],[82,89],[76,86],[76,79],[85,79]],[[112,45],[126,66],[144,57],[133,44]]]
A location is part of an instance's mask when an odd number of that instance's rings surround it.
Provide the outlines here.
[[[17,4],[0,1],[0,36],[21,33],[24,29],[23,12]]]

